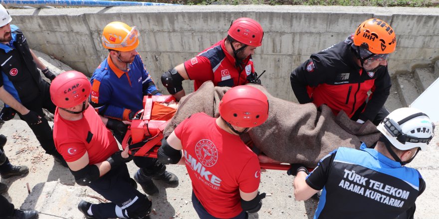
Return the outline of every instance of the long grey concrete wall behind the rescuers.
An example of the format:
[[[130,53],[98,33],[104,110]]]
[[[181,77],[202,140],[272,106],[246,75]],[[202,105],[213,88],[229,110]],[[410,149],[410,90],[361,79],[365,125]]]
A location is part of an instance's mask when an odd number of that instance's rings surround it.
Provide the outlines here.
[[[438,8],[341,6],[144,6],[61,9],[9,9],[35,50],[91,75],[108,55],[100,36],[111,21],[140,28],[138,51],[159,89],[160,75],[226,35],[230,21],[246,16],[259,21],[265,35],[253,56],[262,83],[279,98],[295,101],[290,72],[311,53],[344,40],[358,24],[381,18],[397,34],[391,74],[431,64],[439,54]],[[185,82],[187,93],[193,86]]]

